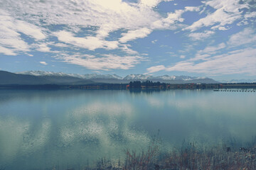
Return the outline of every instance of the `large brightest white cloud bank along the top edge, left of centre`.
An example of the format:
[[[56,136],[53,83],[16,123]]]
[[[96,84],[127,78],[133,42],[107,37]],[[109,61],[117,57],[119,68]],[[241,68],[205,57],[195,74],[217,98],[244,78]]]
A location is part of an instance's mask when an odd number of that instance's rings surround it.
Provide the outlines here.
[[[23,4],[26,4],[24,6]],[[23,20],[31,19],[38,25],[65,25],[70,28],[99,28],[97,38],[105,38],[110,32],[119,29],[137,29],[149,26],[161,18],[151,8],[129,4],[121,0],[110,1],[6,1],[2,8],[11,11]],[[23,11],[26,11],[24,16]],[[28,17],[30,16],[30,17]],[[107,16],[107,17],[106,17]],[[139,16],[139,17],[137,17]]]

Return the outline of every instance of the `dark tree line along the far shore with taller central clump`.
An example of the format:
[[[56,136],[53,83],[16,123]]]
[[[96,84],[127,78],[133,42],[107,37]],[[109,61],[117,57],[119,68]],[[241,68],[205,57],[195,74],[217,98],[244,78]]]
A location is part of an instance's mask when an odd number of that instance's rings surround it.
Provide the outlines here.
[[[159,81],[130,81],[129,84],[6,84],[0,89],[256,89],[256,83],[166,84]]]

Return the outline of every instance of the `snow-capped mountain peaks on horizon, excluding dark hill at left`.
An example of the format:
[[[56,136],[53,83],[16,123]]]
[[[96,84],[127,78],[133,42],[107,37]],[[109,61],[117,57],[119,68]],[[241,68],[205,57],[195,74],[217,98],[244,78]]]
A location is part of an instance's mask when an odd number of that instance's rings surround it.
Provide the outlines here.
[[[207,77],[189,77],[189,76],[157,76],[153,77],[148,74],[129,74],[126,77],[119,77],[117,74],[66,74],[63,72],[43,72],[43,71],[28,71],[28,72],[16,72],[16,74],[28,74],[37,77],[73,77],[82,80],[92,80],[102,83],[129,83],[129,81],[161,81],[172,84],[184,84],[184,83],[218,83],[213,79]]]

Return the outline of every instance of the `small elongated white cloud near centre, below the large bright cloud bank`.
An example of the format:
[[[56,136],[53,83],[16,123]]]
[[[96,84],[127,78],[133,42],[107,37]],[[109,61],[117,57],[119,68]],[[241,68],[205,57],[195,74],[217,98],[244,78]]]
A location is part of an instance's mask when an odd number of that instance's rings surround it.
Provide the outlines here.
[[[122,38],[119,39],[120,42],[124,43],[130,40],[135,40],[137,38],[144,38],[149,35],[152,30],[149,28],[140,28],[138,30],[129,30],[127,33],[122,33]]]

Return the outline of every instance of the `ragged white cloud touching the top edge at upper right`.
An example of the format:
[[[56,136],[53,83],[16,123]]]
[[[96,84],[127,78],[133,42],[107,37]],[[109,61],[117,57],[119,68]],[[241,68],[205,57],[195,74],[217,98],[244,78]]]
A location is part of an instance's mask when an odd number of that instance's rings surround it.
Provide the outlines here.
[[[218,29],[227,24],[231,24],[238,19],[243,18],[242,8],[249,8],[247,4],[240,4],[237,0],[211,0],[203,2],[206,6],[210,6],[215,9],[213,13],[209,13],[205,18],[194,22],[191,26],[186,29],[194,31],[204,26],[214,26],[212,29]]]

